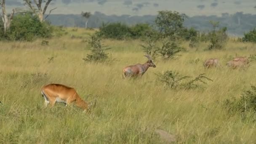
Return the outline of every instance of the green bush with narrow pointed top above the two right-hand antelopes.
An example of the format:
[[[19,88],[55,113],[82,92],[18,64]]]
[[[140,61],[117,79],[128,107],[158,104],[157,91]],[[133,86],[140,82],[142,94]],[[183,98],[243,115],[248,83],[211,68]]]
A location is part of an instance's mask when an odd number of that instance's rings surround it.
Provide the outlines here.
[[[224,46],[227,43],[227,27],[223,27],[219,30],[216,30],[219,27],[219,22],[210,21],[213,25],[213,31],[209,32],[208,36],[210,39],[209,50],[213,49],[224,49]]]

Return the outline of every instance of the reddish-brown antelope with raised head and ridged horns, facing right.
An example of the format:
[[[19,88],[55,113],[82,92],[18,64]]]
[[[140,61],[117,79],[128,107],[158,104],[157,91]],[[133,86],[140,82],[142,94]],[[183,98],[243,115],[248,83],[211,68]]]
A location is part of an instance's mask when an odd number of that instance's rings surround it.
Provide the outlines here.
[[[123,68],[123,77],[142,76],[149,67],[156,67],[152,59],[146,56],[148,61],[145,64],[136,64]]]

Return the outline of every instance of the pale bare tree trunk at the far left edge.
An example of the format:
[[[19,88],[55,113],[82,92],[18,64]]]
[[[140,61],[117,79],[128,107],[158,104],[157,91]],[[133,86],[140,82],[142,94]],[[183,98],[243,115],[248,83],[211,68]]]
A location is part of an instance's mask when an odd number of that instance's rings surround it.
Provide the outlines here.
[[[6,33],[6,31],[9,29],[10,25],[11,25],[11,21],[13,20],[13,15],[14,15],[14,9],[12,10],[12,13],[10,15],[8,15],[6,13],[6,9],[5,9],[5,0],[0,0],[0,6],[2,8],[2,15],[0,14],[2,20],[3,20],[3,27],[4,27],[4,34]]]

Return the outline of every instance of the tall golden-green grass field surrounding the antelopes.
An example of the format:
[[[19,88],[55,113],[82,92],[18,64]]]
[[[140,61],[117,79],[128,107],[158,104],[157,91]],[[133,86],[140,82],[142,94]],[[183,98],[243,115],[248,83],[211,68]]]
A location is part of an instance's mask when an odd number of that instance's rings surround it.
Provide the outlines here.
[[[229,40],[223,51],[204,51],[207,43],[188,48],[178,59],[154,59],[143,77],[122,78],[125,66],[147,58],[139,40],[104,40],[108,64],[82,59],[90,52],[92,30],[67,29],[68,35],[53,37],[49,46],[35,42],[0,42],[0,144],[140,144],[165,143],[154,133],[162,129],[176,136],[176,143],[253,144],[256,123],[230,114],[222,102],[256,85],[256,63],[246,70],[229,69],[227,61],[256,53],[256,45]],[[54,57],[52,61],[48,58]],[[223,68],[205,69],[203,61],[219,58]],[[199,62],[194,62],[199,59]],[[157,83],[155,73],[173,70],[182,75],[205,75],[213,80],[204,88],[173,90]],[[90,114],[64,104],[43,108],[43,85],[61,83],[74,87],[85,101],[97,99]]]

